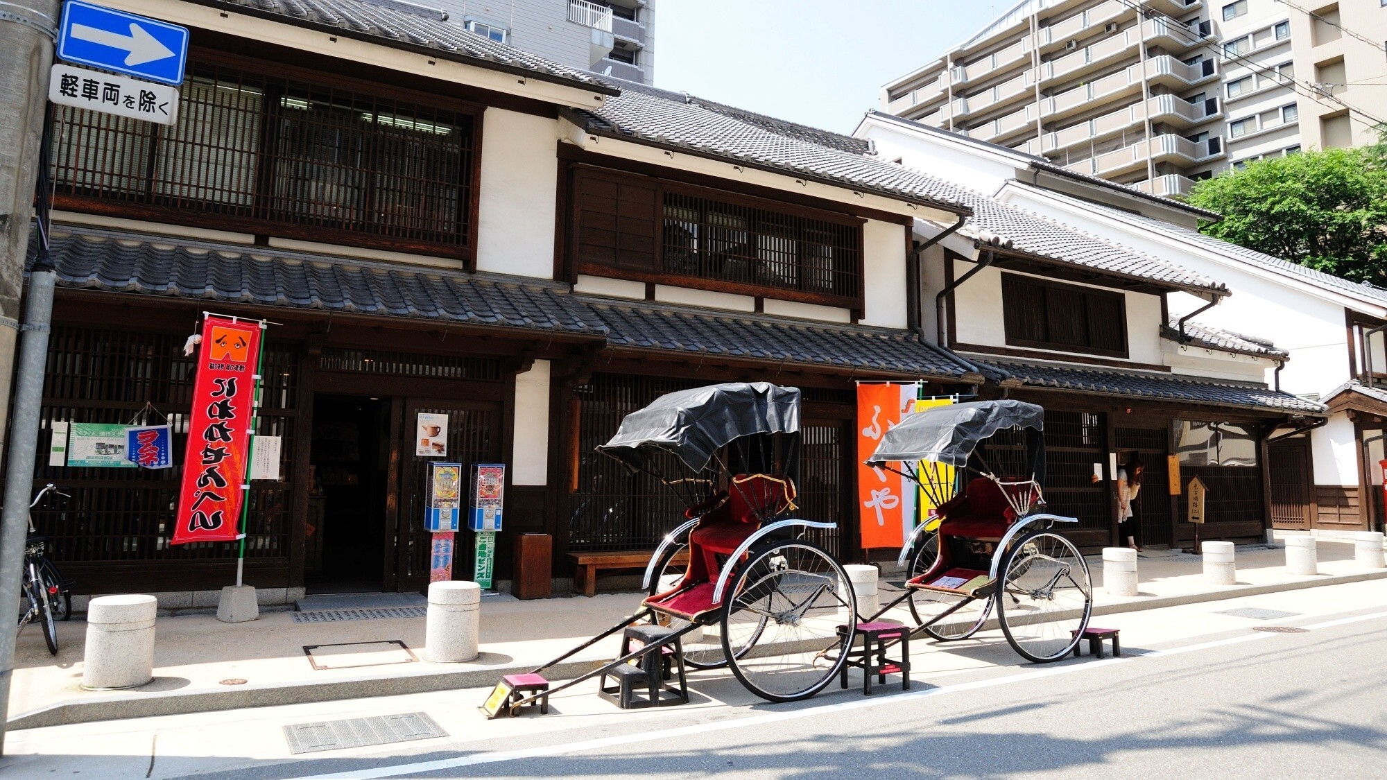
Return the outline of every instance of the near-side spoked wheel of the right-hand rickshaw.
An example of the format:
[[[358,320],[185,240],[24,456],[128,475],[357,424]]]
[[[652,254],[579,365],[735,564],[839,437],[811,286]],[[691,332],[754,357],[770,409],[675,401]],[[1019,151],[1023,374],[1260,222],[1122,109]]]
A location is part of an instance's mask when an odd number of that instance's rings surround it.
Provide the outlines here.
[[[1093,611],[1093,580],[1079,550],[1062,536],[1035,530],[1003,559],[997,619],[1028,661],[1060,661],[1079,644]]]

